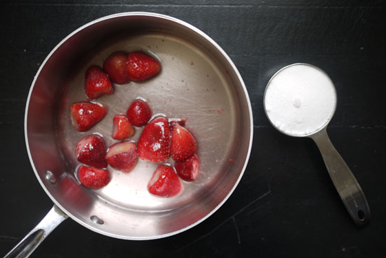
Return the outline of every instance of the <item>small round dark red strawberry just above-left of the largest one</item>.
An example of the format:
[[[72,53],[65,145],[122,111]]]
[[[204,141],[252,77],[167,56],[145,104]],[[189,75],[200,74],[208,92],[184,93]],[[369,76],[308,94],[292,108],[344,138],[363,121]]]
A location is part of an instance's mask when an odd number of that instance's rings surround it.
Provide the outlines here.
[[[145,101],[134,100],[128,108],[126,115],[134,127],[141,127],[152,118],[152,110]]]

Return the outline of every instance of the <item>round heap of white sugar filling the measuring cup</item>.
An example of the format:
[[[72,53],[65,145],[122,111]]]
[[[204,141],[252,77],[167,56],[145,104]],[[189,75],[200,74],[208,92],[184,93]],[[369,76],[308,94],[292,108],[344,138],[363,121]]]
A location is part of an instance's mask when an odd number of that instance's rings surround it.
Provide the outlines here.
[[[334,84],[321,69],[297,64],[278,72],[267,85],[265,111],[272,124],[291,136],[319,131],[336,107]]]

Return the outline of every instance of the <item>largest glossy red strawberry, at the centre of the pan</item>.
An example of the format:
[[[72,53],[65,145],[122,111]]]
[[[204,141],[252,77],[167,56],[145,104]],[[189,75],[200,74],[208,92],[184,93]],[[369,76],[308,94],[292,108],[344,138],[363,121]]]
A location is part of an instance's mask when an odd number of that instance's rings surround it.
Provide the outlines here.
[[[139,158],[152,162],[164,162],[169,158],[170,130],[166,118],[150,121],[143,129],[136,145]]]

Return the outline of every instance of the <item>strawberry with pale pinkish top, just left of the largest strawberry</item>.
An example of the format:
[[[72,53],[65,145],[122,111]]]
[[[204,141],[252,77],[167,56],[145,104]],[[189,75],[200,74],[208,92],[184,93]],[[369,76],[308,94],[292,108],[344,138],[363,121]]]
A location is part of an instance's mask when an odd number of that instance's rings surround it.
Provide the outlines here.
[[[135,143],[123,141],[112,144],[106,154],[106,160],[114,169],[118,169],[125,173],[131,172],[138,161]]]

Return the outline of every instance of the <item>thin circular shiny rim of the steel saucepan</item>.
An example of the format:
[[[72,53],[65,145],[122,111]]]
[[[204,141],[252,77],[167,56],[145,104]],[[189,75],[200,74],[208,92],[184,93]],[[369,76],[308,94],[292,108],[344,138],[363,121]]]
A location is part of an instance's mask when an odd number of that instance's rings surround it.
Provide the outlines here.
[[[235,74],[236,74],[236,76],[238,78],[238,81],[240,82],[241,87],[243,88],[243,92],[245,94],[245,99],[246,99],[247,107],[248,107],[248,111],[249,111],[249,117],[250,117],[250,142],[248,142],[247,155],[245,157],[245,162],[243,164],[243,168],[241,169],[241,173],[238,175],[238,178],[237,178],[234,186],[230,190],[230,192],[227,193],[227,195],[223,198],[223,200],[221,200],[221,202],[216,207],[214,207],[212,209],[212,211],[210,211],[210,213],[207,213],[207,215],[205,215],[205,217],[202,217],[201,219],[197,220],[196,222],[190,224],[189,226],[186,226],[185,228],[181,228],[179,230],[176,230],[176,231],[173,231],[173,232],[170,232],[170,233],[166,233],[166,234],[162,234],[162,235],[147,236],[147,237],[130,237],[130,236],[127,236],[127,235],[116,235],[116,234],[108,233],[108,232],[105,232],[104,230],[101,230],[101,229],[96,228],[96,227],[94,227],[94,226],[92,226],[90,224],[87,224],[87,223],[83,222],[83,220],[79,219],[77,216],[72,215],[72,213],[70,213],[63,206],[61,206],[61,204],[51,195],[50,191],[48,191],[48,189],[45,187],[43,181],[41,180],[41,178],[39,176],[39,173],[37,172],[36,167],[34,166],[34,161],[32,160],[32,155],[30,153],[30,146],[29,146],[29,142],[28,142],[28,130],[27,130],[28,129],[27,128],[28,107],[30,105],[30,98],[31,98],[31,95],[32,95],[32,91],[34,89],[34,85],[36,83],[37,78],[39,77],[39,74],[41,73],[41,70],[45,66],[45,63],[47,63],[47,61],[50,59],[52,54],[54,54],[54,52],[56,52],[57,49],[59,47],[61,47],[61,45],[63,43],[65,43],[66,41],[68,41],[68,39],[70,39],[72,36],[74,36],[74,34],[77,34],[81,30],[83,30],[85,28],[88,28],[90,25],[94,25],[95,23],[99,23],[101,21],[105,21],[105,20],[108,20],[108,19],[114,19],[114,18],[117,18],[117,17],[126,17],[126,16],[145,16],[145,17],[156,17],[156,18],[166,19],[166,20],[172,21],[174,23],[179,23],[179,24],[185,26],[186,28],[196,32],[197,34],[200,34],[201,36],[203,36],[203,38],[205,40],[207,40],[217,50],[219,50],[221,55],[226,59],[226,61],[230,64],[230,66],[234,70],[234,72],[235,72]],[[245,87],[245,83],[243,81],[243,78],[241,78],[241,74],[238,72],[238,69],[236,68],[236,65],[234,65],[234,63],[232,62],[231,58],[225,53],[225,51],[212,38],[210,38],[210,36],[207,36],[207,34],[202,32],[198,28],[194,27],[190,23],[186,23],[185,21],[181,21],[180,19],[176,19],[174,17],[170,17],[170,16],[167,16],[165,14],[158,14],[158,13],[154,13],[154,12],[121,12],[121,13],[117,13],[117,14],[111,14],[111,15],[108,15],[108,16],[105,16],[105,17],[101,17],[99,19],[95,19],[94,21],[90,21],[89,23],[86,23],[85,25],[82,25],[81,27],[77,28],[77,30],[74,30],[73,32],[68,34],[68,36],[65,36],[65,38],[63,40],[61,40],[51,50],[51,52],[48,54],[48,56],[45,57],[43,63],[41,63],[41,66],[39,67],[39,69],[37,71],[37,74],[34,76],[34,80],[32,80],[30,91],[28,93],[28,98],[27,98],[27,102],[26,102],[26,111],[25,111],[25,116],[24,116],[24,137],[25,137],[25,140],[26,140],[26,148],[27,148],[28,158],[30,159],[30,163],[32,165],[32,169],[33,169],[33,171],[35,173],[35,176],[37,177],[37,180],[41,184],[41,187],[43,188],[45,193],[48,195],[48,197],[50,197],[52,202],[54,202],[54,205],[56,205],[58,208],[60,208],[61,211],[63,211],[63,213],[65,213],[66,215],[68,215],[69,217],[74,219],[74,221],[78,222],[82,226],[85,226],[85,228],[88,228],[88,229],[90,229],[90,230],[92,230],[92,231],[94,231],[96,233],[101,234],[101,235],[106,235],[108,237],[114,237],[114,238],[117,238],[117,239],[127,239],[127,240],[160,239],[160,238],[176,235],[178,233],[182,233],[183,231],[188,230],[188,229],[190,229],[190,228],[200,224],[205,219],[210,217],[214,212],[216,212],[228,200],[230,195],[232,195],[232,193],[234,192],[234,189],[236,189],[236,186],[238,185],[238,183],[240,182],[241,178],[243,177],[243,174],[245,172],[248,160],[250,159],[250,153],[251,153],[251,150],[252,150],[253,132],[254,132],[254,125],[253,125],[253,114],[252,114],[252,106],[251,106],[251,103],[250,103],[250,97],[249,97],[249,95],[247,93],[247,89]]]

